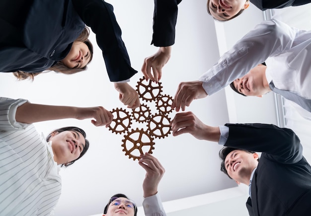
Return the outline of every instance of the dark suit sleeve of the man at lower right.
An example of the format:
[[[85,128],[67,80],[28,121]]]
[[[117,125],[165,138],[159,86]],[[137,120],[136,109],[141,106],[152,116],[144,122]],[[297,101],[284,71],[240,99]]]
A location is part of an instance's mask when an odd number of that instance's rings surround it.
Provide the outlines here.
[[[300,139],[289,128],[273,124],[226,124],[229,137],[225,146],[262,152],[280,163],[297,163],[303,158]]]

